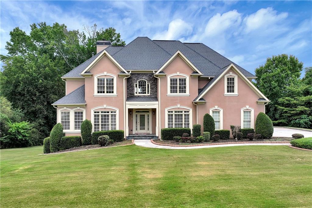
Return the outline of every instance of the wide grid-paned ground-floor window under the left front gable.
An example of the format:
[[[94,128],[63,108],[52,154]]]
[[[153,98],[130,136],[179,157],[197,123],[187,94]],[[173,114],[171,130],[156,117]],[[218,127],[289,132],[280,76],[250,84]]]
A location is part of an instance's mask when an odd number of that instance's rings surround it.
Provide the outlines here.
[[[94,131],[116,130],[116,111],[94,111]]]

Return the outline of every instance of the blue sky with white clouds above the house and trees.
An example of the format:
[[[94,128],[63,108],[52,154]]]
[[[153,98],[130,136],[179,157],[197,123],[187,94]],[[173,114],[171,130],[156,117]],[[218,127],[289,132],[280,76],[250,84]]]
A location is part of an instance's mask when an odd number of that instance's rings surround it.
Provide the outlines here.
[[[311,1],[1,1],[1,54],[14,27],[41,21],[115,27],[126,43],[137,36],[202,42],[254,73],[273,54],[312,66]]]

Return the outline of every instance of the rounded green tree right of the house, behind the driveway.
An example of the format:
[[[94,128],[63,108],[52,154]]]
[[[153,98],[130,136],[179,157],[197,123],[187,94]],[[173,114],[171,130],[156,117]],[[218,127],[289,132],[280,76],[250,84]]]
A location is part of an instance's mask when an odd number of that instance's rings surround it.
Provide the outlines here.
[[[267,58],[266,64],[255,70],[256,87],[271,100],[266,106],[266,114],[273,122],[280,119],[278,99],[284,96],[286,87],[299,82],[302,67],[303,63],[295,56],[281,54]]]

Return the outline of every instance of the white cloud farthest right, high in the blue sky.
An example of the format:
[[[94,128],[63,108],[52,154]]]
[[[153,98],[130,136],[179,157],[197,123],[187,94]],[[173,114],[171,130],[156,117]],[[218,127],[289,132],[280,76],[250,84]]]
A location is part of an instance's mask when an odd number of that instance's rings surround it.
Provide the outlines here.
[[[261,29],[263,31],[268,27],[272,27],[275,24],[282,22],[282,20],[287,18],[287,16],[287,12],[277,14],[277,11],[275,11],[272,7],[259,9],[256,13],[244,18],[243,22],[245,24],[245,31],[247,33],[257,29]]]

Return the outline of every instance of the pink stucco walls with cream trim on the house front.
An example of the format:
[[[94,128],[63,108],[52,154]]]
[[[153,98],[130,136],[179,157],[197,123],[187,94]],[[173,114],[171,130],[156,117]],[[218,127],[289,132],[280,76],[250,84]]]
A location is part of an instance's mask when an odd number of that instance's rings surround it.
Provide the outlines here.
[[[231,68],[227,73],[232,72],[238,75],[236,69]],[[254,121],[259,112],[265,112],[265,105],[257,103],[257,100],[261,98],[259,93],[257,94],[250,85],[244,81],[244,77],[238,75],[237,87],[238,96],[225,96],[224,95],[224,78],[214,84],[214,86],[202,97],[206,102],[197,104],[193,100],[198,95],[198,89],[203,88],[212,78],[198,78],[192,77],[191,74],[194,69],[186,63],[184,59],[177,56],[172,60],[168,66],[163,69],[165,76],[159,76],[157,79],[158,102],[126,102],[127,99],[127,78],[120,76],[119,69],[116,64],[106,55],[99,59],[99,61],[89,71],[91,77],[85,77],[82,80],[66,80],[66,92],[67,94],[85,84],[85,102],[86,105],[82,106],[57,106],[58,118],[57,122],[60,122],[59,112],[84,110],[85,119],[91,120],[93,124],[93,111],[112,111],[118,110],[118,129],[125,131],[125,136],[133,134],[133,109],[150,109],[151,113],[151,128],[152,134],[160,136],[160,130],[165,128],[166,114],[168,109],[170,111],[190,111],[192,115],[190,128],[193,124],[203,124],[203,116],[206,113],[210,113],[210,109],[218,106],[223,110],[223,129],[230,129],[230,125],[241,125],[241,109],[243,107],[250,107],[254,109]],[[128,72],[131,76],[131,73]],[[143,72],[144,73],[144,72]],[[101,75],[100,75],[101,74]],[[95,92],[95,80],[98,78],[110,77],[113,75],[116,81],[116,95],[114,96],[97,96]],[[171,76],[175,74],[174,76]],[[172,96],[168,94],[168,79],[172,78],[187,78],[188,93],[185,95]],[[156,78],[155,78],[156,79]],[[156,87],[156,86],[151,86]],[[137,105],[137,106],[135,106]],[[144,106],[145,105],[145,106]],[[150,106],[150,107],[149,107]],[[64,107],[66,107],[64,109]],[[198,111],[197,111],[198,109]],[[131,114],[130,114],[131,111]],[[126,113],[124,113],[126,112]],[[154,112],[154,114],[153,114]],[[157,131],[158,130],[158,131]],[[79,131],[65,132],[66,135],[80,135]]]

